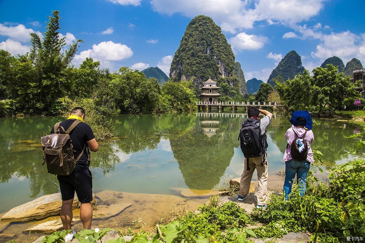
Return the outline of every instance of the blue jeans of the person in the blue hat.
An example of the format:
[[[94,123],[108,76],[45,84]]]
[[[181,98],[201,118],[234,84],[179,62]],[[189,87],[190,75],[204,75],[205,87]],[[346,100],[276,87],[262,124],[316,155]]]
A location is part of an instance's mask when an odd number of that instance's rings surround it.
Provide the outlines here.
[[[292,192],[292,184],[295,175],[297,175],[297,183],[300,188],[300,196],[304,195],[306,191],[306,180],[309,168],[311,167],[311,163],[297,160],[289,160],[285,161],[285,180],[284,180],[284,193],[285,199],[289,199],[289,194]]]

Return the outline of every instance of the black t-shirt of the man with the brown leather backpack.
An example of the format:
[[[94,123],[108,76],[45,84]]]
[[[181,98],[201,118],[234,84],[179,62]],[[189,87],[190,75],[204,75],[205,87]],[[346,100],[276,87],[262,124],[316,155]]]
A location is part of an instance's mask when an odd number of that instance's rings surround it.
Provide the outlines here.
[[[76,121],[75,119],[68,119],[66,121],[61,122],[59,126],[62,126],[65,131],[73,124],[73,122]],[[52,128],[51,134],[54,133],[54,130]],[[72,140],[72,146],[74,152],[75,159],[78,157],[78,155],[81,153],[81,150],[84,148],[85,144],[87,144],[87,141],[92,140],[95,138],[94,133],[92,132],[91,127],[86,124],[85,122],[81,122],[77,125],[75,129],[70,133],[70,138]],[[80,171],[87,171],[89,169],[88,165],[88,156],[86,149],[84,150],[84,153],[80,157],[80,159],[76,163],[76,169]]]

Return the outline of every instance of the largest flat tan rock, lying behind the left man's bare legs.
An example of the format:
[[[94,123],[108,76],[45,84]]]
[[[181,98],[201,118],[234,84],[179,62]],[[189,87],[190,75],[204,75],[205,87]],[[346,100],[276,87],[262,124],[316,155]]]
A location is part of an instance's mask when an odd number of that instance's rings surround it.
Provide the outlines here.
[[[77,208],[79,204],[80,202],[75,194],[72,209]],[[33,201],[10,209],[10,211],[5,213],[5,215],[1,218],[1,221],[9,220],[12,222],[22,222],[34,219],[44,219],[49,216],[58,215],[61,211],[61,206],[62,199],[60,192],[44,195],[34,199]]]

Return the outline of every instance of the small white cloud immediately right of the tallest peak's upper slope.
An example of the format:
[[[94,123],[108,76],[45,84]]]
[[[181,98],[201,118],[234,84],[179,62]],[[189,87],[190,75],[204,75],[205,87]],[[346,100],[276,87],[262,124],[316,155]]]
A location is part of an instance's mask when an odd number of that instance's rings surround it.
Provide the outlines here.
[[[266,36],[247,35],[245,32],[239,33],[228,40],[232,48],[238,51],[258,50],[264,47],[264,44],[268,41],[269,39]]]

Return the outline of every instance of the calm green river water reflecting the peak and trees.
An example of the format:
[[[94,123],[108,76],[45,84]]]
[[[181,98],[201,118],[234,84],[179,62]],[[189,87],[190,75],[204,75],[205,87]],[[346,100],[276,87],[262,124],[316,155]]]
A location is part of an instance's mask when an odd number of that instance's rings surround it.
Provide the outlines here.
[[[276,113],[267,128],[269,175],[274,178],[286,146],[290,115]],[[212,189],[226,175],[239,177],[243,154],[237,141],[246,113],[120,115],[116,139],[101,142],[91,155],[93,191],[172,195],[170,188]],[[60,117],[0,119],[0,213],[39,196],[59,192],[54,175],[42,166],[40,137]],[[336,119],[314,118],[313,149],[324,169],[353,158],[361,128]],[[270,180],[269,176],[269,180]],[[254,176],[254,180],[257,176]]]

